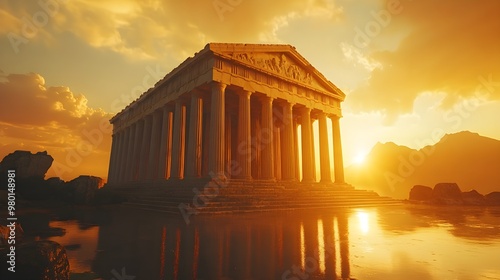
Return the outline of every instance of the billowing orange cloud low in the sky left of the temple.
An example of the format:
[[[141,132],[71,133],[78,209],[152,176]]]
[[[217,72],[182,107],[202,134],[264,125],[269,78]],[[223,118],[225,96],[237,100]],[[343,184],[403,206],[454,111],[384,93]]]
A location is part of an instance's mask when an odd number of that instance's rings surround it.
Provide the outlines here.
[[[0,157],[47,150],[55,160],[49,176],[106,177],[110,114],[88,107],[68,87],[47,87],[35,73],[0,75],[0,100]]]

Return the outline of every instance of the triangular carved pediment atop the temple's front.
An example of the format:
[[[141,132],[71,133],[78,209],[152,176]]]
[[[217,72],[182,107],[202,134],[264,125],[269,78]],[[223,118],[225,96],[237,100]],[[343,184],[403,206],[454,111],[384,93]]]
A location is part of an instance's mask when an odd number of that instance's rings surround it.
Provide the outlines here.
[[[212,52],[236,63],[340,96],[345,94],[317,71],[290,45],[217,44]]]

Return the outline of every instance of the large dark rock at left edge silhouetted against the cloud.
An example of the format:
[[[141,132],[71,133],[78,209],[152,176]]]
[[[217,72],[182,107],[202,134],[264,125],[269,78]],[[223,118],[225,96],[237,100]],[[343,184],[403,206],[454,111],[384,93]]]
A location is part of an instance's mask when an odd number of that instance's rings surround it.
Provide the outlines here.
[[[43,179],[53,161],[54,159],[46,151],[36,154],[29,151],[15,151],[5,156],[0,162],[0,174],[14,169],[18,179]]]

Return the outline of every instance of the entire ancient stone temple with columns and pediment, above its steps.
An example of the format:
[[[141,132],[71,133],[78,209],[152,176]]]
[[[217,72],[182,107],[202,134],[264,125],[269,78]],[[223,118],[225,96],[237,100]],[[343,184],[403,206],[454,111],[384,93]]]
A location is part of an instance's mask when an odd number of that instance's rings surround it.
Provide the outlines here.
[[[343,185],[344,98],[290,45],[207,44],[111,119],[108,186]]]

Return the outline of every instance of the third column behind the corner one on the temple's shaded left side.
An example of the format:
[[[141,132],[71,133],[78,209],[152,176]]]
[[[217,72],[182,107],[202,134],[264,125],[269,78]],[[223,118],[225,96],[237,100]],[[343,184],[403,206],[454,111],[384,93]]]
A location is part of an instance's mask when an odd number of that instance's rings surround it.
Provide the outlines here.
[[[162,109],[162,125],[160,140],[160,160],[158,165],[158,178],[166,179],[170,177],[170,163],[172,157],[172,119],[173,114],[168,107]]]

